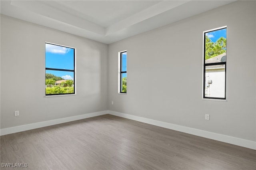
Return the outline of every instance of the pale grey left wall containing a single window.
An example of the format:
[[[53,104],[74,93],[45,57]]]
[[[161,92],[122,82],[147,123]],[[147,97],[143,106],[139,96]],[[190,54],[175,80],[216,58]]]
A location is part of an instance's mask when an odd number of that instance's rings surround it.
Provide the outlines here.
[[[45,42],[76,48],[77,95],[45,97]],[[1,129],[107,110],[107,55],[106,44],[1,15]]]

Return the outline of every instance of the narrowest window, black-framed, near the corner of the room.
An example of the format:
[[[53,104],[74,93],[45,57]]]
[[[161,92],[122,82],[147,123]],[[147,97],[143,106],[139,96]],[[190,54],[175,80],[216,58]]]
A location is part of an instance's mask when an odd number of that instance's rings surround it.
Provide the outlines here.
[[[127,80],[127,52],[122,51],[118,53],[118,93],[126,93],[126,80]]]

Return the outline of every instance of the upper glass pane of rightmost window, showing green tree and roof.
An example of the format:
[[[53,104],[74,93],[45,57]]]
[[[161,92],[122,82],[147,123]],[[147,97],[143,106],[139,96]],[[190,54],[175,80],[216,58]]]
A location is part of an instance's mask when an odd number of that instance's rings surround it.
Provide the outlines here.
[[[205,38],[205,63],[218,63],[226,61],[227,28],[207,32]]]

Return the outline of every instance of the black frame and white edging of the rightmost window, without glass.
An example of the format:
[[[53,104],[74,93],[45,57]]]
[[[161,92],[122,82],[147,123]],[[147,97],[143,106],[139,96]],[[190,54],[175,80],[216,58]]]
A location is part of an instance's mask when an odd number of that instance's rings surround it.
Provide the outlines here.
[[[205,36],[208,32],[213,32],[213,31],[217,31],[217,30],[222,30],[226,28],[226,36],[227,36],[227,26],[222,26],[222,27],[218,27],[218,28],[214,28],[214,29],[211,29],[211,30],[206,30],[203,32],[203,93],[202,93],[202,98],[203,99],[213,99],[213,100],[220,100],[220,101],[226,101],[226,61],[222,61],[222,62],[218,62],[218,63],[205,63],[205,45],[206,45],[206,42],[205,42]],[[227,38],[226,38],[226,41],[227,41]],[[205,86],[206,86],[206,67],[207,66],[210,66],[210,65],[225,65],[225,87],[224,87],[224,97],[206,97],[205,96]]]

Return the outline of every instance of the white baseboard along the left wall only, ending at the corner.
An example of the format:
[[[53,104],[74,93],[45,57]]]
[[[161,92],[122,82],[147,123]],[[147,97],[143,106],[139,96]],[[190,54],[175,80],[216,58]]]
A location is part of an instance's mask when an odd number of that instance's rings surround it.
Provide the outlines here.
[[[3,129],[0,129],[0,135],[2,136],[5,134],[22,132],[25,130],[47,127],[47,126],[51,126],[51,125],[57,125],[60,123],[66,123],[66,122],[71,122],[71,121],[76,121],[76,120],[80,120],[80,119],[86,119],[86,118],[100,116],[100,115],[106,115],[106,114],[108,114],[108,111],[100,111],[100,112],[88,113],[88,114],[77,115],[77,116],[72,116],[72,117],[64,117],[64,118],[60,118],[60,119],[54,119],[54,120],[50,120],[50,121],[31,123],[28,125],[21,125],[21,126],[17,126],[17,127],[3,128]]]

